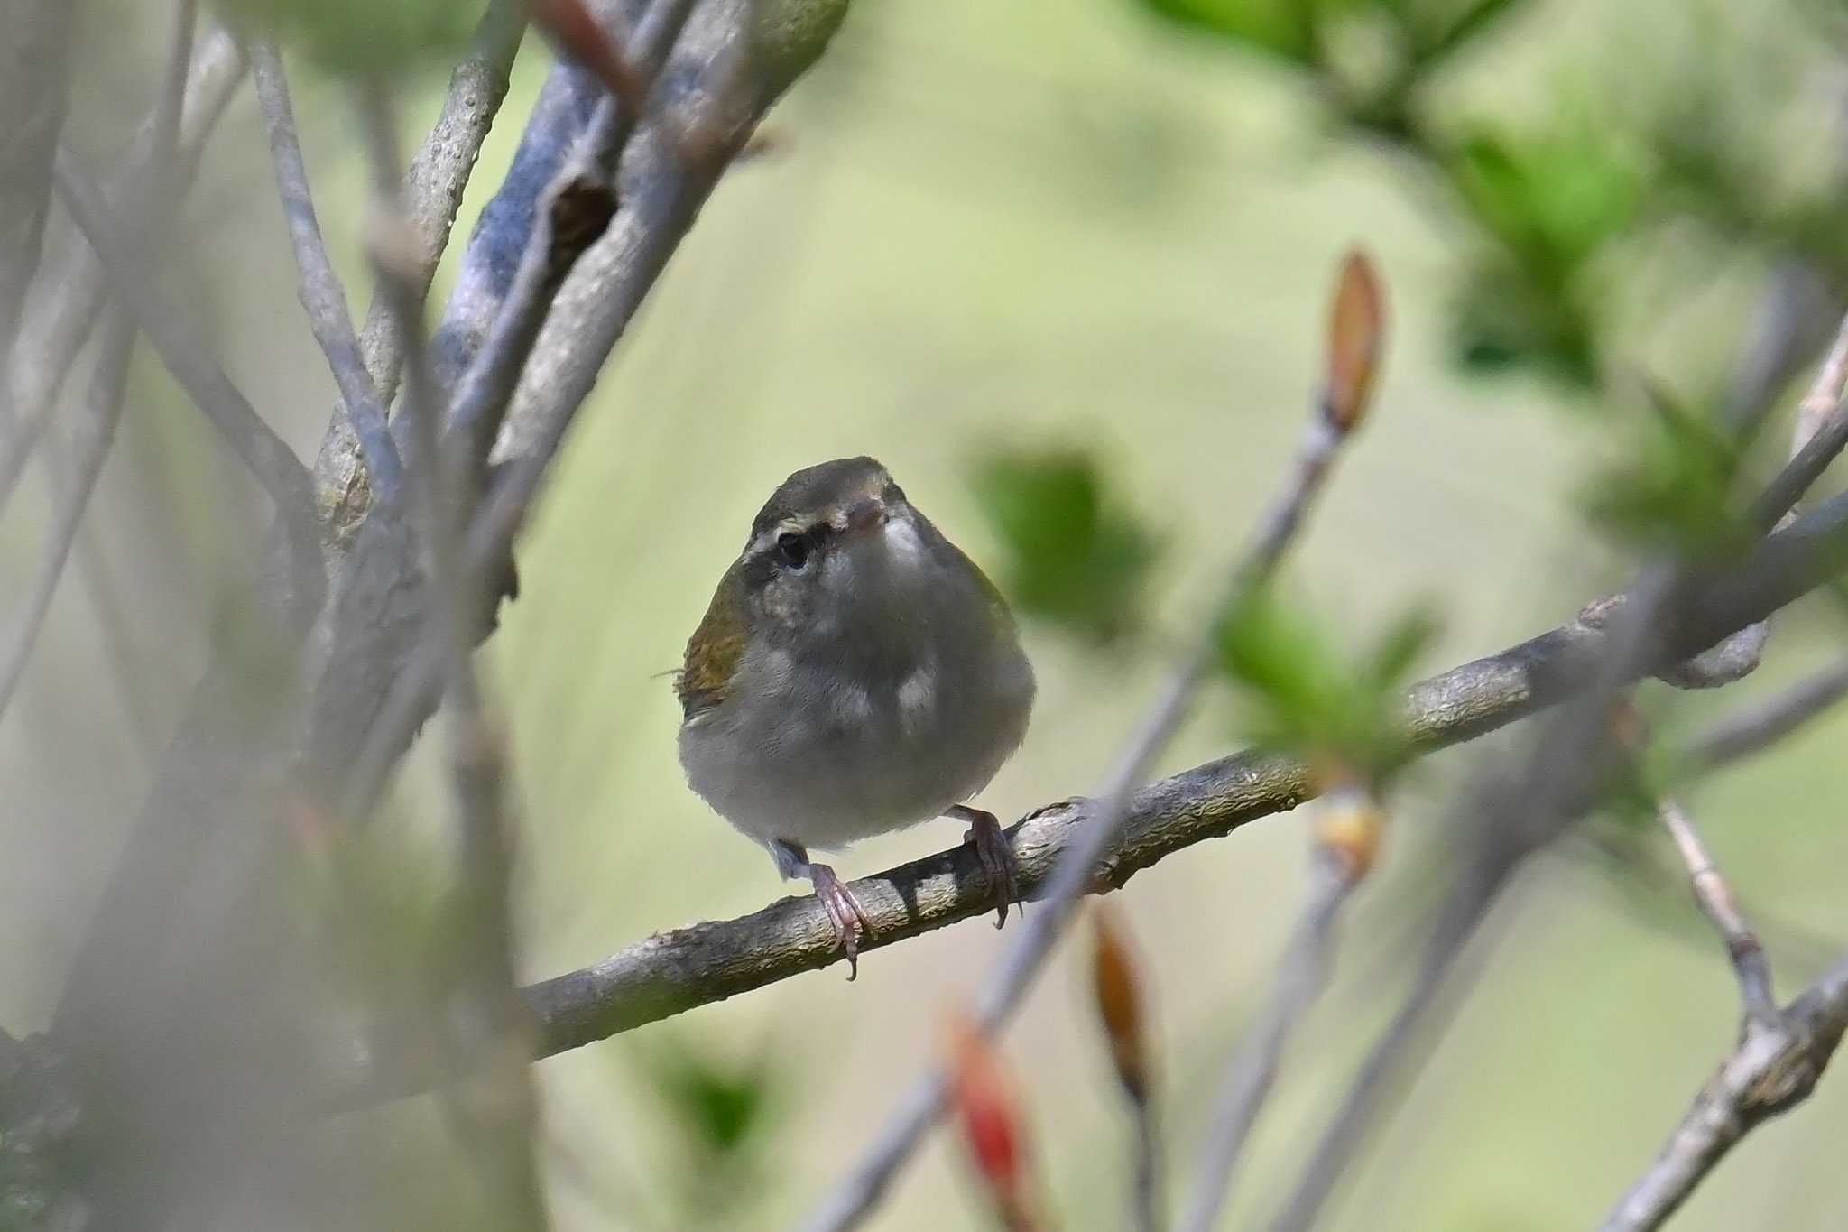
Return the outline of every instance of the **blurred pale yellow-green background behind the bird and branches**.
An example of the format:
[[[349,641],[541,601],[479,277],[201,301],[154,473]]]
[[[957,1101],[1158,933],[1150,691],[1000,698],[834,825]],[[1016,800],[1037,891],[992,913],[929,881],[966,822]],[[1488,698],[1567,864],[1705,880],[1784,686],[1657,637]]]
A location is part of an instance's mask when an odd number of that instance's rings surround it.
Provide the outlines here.
[[[87,153],[107,157],[148,111],[153,7],[118,0],[85,18],[72,140]],[[1781,399],[1752,460],[1776,464],[1848,290],[1848,7],[1351,0],[1321,6],[1314,48],[1303,11],[857,0],[608,364],[519,545],[521,597],[482,652],[512,737],[529,979],[795,888],[687,791],[663,676],[793,469],[878,456],[1011,593],[1026,565],[985,484],[1007,465],[1083,460],[1111,517],[1146,536],[1146,569],[1122,593],[1133,632],[1103,643],[1083,613],[1026,606],[1037,719],[979,800],[1009,820],[1098,783],[1283,486],[1353,244],[1388,288],[1388,360],[1283,586],[1336,645],[1423,604],[1440,621],[1417,661],[1429,674],[1621,584],[1639,541],[1676,519],[1645,499],[1661,453],[1645,390],[1700,410]],[[529,37],[458,236],[549,63]],[[444,78],[444,65],[412,78],[407,142]],[[323,231],[364,288],[351,113],[312,66],[296,91]],[[438,301],[447,277],[449,262]],[[294,299],[248,87],[207,150],[168,279],[310,458],[333,382]],[[1761,329],[1793,303],[1813,329],[1767,358]],[[0,600],[24,591],[44,534],[68,458],[59,432],[0,519]],[[15,1034],[50,1018],[264,517],[142,355],[78,558],[0,722],[0,1023]],[[1781,615],[1765,667],[1719,695],[1656,685],[1660,722],[1698,730],[1813,670],[1841,619],[1818,600]],[[1238,748],[1249,724],[1220,685],[1162,772]],[[1687,791],[1785,994],[1848,946],[1844,737],[1848,722],[1817,722]],[[1395,791],[1380,876],[1223,1226],[1283,1197],[1393,1009],[1464,840],[1441,826],[1445,803],[1493,743],[1432,757]],[[442,859],[447,794],[425,744],[388,807],[390,868]],[[959,839],[937,822],[835,866],[867,876]],[[1301,818],[1284,815],[1116,896],[1148,964],[1175,1177],[1209,1112],[1205,1079],[1266,988],[1305,855]],[[1493,931],[1438,1062],[1327,1226],[1587,1226],[1733,1042],[1722,949],[1658,837],[1626,818],[1593,818],[1539,861]],[[869,955],[854,984],[830,968],[541,1062],[558,1226],[789,1225],[935,1055],[946,1009],[1003,940],[965,922]],[[1129,1123],[1085,981],[1083,946],[1063,948],[1005,1055],[1061,1226],[1116,1228]],[[427,1103],[346,1127],[373,1143],[405,1226],[466,1204]],[[1842,1226],[1844,1132],[1848,1081],[1826,1079],[1674,1226]],[[985,1221],[959,1145],[937,1134],[870,1226]]]

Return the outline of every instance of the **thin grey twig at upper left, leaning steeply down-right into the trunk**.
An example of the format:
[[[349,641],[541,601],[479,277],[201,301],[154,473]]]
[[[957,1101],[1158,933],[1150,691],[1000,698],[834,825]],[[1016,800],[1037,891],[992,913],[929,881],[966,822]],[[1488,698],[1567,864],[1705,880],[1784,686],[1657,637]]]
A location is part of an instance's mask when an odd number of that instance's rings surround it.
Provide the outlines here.
[[[340,386],[340,405],[346,410],[353,436],[359,440],[371,484],[386,501],[395,499],[403,464],[397,445],[384,423],[384,403],[366,371],[366,356],[353,332],[346,288],[322,240],[322,223],[314,214],[314,194],[309,188],[309,168],[301,159],[301,137],[296,133],[296,111],[288,102],[288,76],[275,44],[253,41],[249,46],[251,76],[262,103],[262,122],[270,137],[270,161],[275,166],[275,192],[288,220],[288,240],[296,249],[298,296],[309,318],[314,340],[327,356],[334,382]]]

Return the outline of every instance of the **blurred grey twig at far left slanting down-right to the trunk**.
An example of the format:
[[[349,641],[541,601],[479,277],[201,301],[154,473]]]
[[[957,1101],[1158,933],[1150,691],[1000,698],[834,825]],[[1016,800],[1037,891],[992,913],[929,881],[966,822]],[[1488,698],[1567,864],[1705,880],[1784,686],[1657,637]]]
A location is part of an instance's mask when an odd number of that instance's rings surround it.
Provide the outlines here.
[[[314,491],[301,460],[231,384],[194,332],[188,314],[153,284],[102,203],[96,185],[68,151],[59,150],[54,174],[59,198],[109,270],[118,294],[135,314],[135,323],[148,334],[161,362],[275,502],[292,545],[290,571],[318,571]]]

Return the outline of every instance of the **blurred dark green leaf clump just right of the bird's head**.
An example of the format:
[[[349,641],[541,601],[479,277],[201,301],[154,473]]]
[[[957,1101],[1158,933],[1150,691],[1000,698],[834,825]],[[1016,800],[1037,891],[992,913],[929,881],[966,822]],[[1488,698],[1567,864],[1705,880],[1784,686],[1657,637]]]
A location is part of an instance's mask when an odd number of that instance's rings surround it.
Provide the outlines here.
[[[996,451],[974,467],[974,491],[1005,554],[1002,589],[1015,608],[1094,645],[1142,626],[1161,539],[1076,451]]]

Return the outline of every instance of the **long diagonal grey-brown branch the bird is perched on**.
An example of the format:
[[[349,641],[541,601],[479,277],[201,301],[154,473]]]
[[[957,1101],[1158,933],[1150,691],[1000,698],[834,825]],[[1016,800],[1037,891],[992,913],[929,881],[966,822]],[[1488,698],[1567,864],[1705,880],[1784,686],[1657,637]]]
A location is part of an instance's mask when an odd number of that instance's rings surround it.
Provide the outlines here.
[[[1848,495],[1820,504],[1713,580],[1687,604],[1658,658],[1635,674],[1765,619],[1842,569],[1848,569]],[[1610,639],[1604,628],[1573,622],[1419,682],[1404,707],[1416,750],[1436,752],[1565,702],[1597,678]],[[1122,837],[1100,861],[1094,883],[1120,888],[1168,855],[1294,809],[1312,794],[1308,768],[1281,754],[1247,750],[1183,770],[1133,796]],[[1029,898],[1044,890],[1088,807],[1090,802],[1068,800],[1011,827]],[[967,846],[854,881],[852,890],[874,924],[867,951],[985,914],[994,905],[981,864]],[[658,933],[601,962],[530,984],[527,999],[540,1018],[540,1055],[551,1057],[839,959],[815,898],[785,898],[736,920]],[[434,1077],[419,1058],[360,1051],[349,1057],[349,1073],[336,1079],[334,1101],[397,1095]]]

